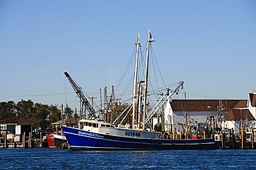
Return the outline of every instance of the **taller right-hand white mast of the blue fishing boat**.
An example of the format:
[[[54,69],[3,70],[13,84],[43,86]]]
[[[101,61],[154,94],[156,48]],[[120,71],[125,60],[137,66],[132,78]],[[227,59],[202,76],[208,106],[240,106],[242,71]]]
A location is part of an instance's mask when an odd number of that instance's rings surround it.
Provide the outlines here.
[[[143,130],[145,129],[145,115],[146,115],[146,108],[147,108],[146,104],[147,104],[147,82],[148,82],[148,74],[149,74],[149,47],[152,41],[154,40],[152,39],[152,35],[149,30],[149,37],[147,39],[147,60],[146,60],[145,84],[144,84]]]

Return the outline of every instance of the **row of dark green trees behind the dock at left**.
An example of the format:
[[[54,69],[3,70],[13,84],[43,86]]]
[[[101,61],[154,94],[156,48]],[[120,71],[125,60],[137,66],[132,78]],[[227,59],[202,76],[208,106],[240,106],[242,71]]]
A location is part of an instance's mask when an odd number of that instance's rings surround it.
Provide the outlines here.
[[[71,108],[64,109],[66,117],[72,117]],[[0,124],[30,124],[34,129],[51,129],[51,123],[62,118],[62,109],[55,105],[34,103],[32,100],[0,102]]]

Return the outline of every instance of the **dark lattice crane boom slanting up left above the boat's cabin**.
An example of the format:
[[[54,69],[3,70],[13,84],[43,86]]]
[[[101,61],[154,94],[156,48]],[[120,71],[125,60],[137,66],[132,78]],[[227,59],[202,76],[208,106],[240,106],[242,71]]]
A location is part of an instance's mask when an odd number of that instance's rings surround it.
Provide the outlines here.
[[[91,116],[95,116],[95,110],[93,109],[93,107],[91,106],[91,104],[89,103],[87,98],[85,97],[84,93],[82,93],[82,91],[81,91],[82,88],[80,86],[78,86],[78,84],[75,83],[75,81],[71,78],[71,76],[67,72],[65,72],[64,75],[66,75],[66,78],[68,79],[68,82],[70,82],[70,84],[73,87],[75,93],[80,98],[82,104],[85,106],[87,111],[89,111],[89,114]]]

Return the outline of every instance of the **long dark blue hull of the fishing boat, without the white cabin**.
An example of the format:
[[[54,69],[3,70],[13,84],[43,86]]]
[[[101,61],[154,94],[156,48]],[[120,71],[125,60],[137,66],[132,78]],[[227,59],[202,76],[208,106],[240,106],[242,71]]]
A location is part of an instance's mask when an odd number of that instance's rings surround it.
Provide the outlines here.
[[[161,149],[215,149],[214,139],[165,140],[129,138],[105,135],[62,126],[71,149],[95,150],[161,150]]]

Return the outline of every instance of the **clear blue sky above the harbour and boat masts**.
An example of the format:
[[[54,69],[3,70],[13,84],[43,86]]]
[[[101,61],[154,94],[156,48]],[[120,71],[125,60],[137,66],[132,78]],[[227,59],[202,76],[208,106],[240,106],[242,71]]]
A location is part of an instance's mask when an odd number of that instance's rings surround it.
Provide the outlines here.
[[[51,95],[73,92],[64,71],[99,98],[111,66],[115,84],[148,30],[165,84],[183,80],[188,99],[246,99],[256,89],[254,0],[2,0],[0,102],[78,106],[73,93]]]

